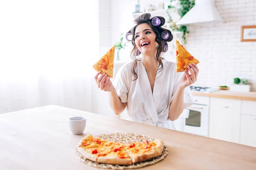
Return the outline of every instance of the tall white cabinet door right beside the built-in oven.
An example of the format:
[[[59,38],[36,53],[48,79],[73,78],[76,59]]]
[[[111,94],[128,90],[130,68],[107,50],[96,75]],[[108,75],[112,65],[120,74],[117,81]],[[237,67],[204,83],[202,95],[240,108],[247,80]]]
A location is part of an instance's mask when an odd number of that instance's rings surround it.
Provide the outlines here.
[[[240,142],[241,100],[210,98],[209,137]]]

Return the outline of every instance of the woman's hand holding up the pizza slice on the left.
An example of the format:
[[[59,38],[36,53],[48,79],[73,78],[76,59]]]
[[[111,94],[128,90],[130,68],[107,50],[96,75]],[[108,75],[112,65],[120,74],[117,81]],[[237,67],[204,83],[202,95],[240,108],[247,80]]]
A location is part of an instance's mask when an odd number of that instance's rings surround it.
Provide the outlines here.
[[[94,79],[96,81],[96,84],[98,85],[98,88],[100,88],[103,91],[114,91],[115,88],[110,80],[110,77],[108,77],[106,73],[101,74],[101,76],[99,77],[100,73],[101,71],[99,71],[94,76]]]

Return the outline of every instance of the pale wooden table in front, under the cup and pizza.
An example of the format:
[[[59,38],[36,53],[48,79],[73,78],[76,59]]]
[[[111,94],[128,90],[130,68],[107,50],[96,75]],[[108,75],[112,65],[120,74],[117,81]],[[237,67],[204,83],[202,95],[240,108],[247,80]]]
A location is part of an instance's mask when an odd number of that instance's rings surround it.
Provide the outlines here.
[[[85,116],[82,135],[71,134],[68,118]],[[175,130],[114,119],[55,105],[0,115],[1,170],[95,170],[74,151],[87,135],[137,132],[163,139],[169,155],[147,170],[256,170],[256,148]]]

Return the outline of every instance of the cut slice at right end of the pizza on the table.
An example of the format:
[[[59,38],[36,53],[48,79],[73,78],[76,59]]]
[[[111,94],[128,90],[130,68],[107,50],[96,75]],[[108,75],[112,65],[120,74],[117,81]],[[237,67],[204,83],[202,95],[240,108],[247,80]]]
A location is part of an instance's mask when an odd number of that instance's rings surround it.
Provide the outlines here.
[[[136,163],[160,156],[163,152],[163,142],[160,139],[156,139],[153,142],[144,140],[143,142],[127,144],[125,150],[131,161]]]

